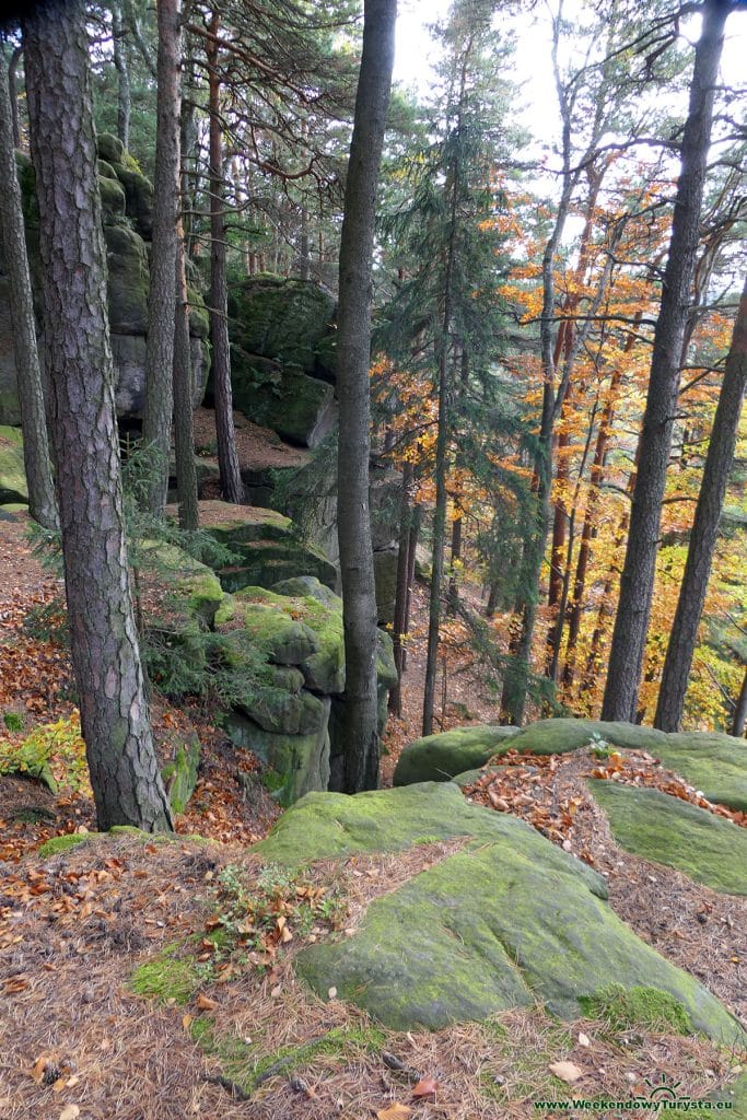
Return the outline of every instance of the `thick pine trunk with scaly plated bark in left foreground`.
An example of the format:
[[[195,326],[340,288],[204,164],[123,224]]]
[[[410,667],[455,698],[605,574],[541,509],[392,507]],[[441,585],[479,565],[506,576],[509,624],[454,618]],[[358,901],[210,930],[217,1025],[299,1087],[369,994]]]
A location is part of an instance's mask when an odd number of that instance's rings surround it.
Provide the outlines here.
[[[100,829],[171,827],[143,691],[124,541],[106,255],[83,0],[25,24],[46,361],[71,654]]]

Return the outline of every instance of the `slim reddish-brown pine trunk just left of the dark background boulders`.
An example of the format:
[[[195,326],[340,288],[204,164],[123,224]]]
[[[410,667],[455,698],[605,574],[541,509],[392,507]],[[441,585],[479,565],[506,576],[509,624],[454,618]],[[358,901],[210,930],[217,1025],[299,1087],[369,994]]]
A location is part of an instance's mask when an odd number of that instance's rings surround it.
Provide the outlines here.
[[[209,26],[206,54],[208,65],[209,178],[211,178],[211,342],[213,344],[213,384],[215,393],[215,437],[217,442],[221,495],[225,502],[242,505],[236,432],[233,426],[231,349],[228,346],[228,286],[226,281],[225,216],[223,213],[223,137],[221,134],[221,77],[218,62],[218,16]]]

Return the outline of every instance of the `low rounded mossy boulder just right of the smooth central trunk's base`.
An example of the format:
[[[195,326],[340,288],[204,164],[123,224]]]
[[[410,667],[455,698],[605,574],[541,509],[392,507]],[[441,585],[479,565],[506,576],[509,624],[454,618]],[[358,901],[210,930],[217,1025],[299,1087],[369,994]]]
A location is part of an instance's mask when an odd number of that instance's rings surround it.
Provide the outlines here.
[[[441,735],[427,735],[410,743],[394,769],[394,785],[414,782],[448,782],[465,771],[483,766],[493,755],[508,749],[519,735],[516,727],[457,727]]]

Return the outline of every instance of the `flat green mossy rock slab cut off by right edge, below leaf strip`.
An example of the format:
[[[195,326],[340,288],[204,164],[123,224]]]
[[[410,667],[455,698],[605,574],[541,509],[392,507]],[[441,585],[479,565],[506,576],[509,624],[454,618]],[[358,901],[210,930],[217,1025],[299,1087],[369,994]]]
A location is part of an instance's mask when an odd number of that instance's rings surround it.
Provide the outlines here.
[[[659,790],[590,778],[617,843],[728,895],[747,895],[747,830]]]

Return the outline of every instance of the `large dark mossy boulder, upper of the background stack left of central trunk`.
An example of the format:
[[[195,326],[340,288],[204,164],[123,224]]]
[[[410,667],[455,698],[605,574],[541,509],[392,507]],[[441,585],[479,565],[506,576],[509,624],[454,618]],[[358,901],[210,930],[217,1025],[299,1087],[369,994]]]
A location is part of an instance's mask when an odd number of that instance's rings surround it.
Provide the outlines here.
[[[314,373],[334,310],[334,296],[314,280],[249,277],[228,291],[231,340],[240,358],[259,354]]]

